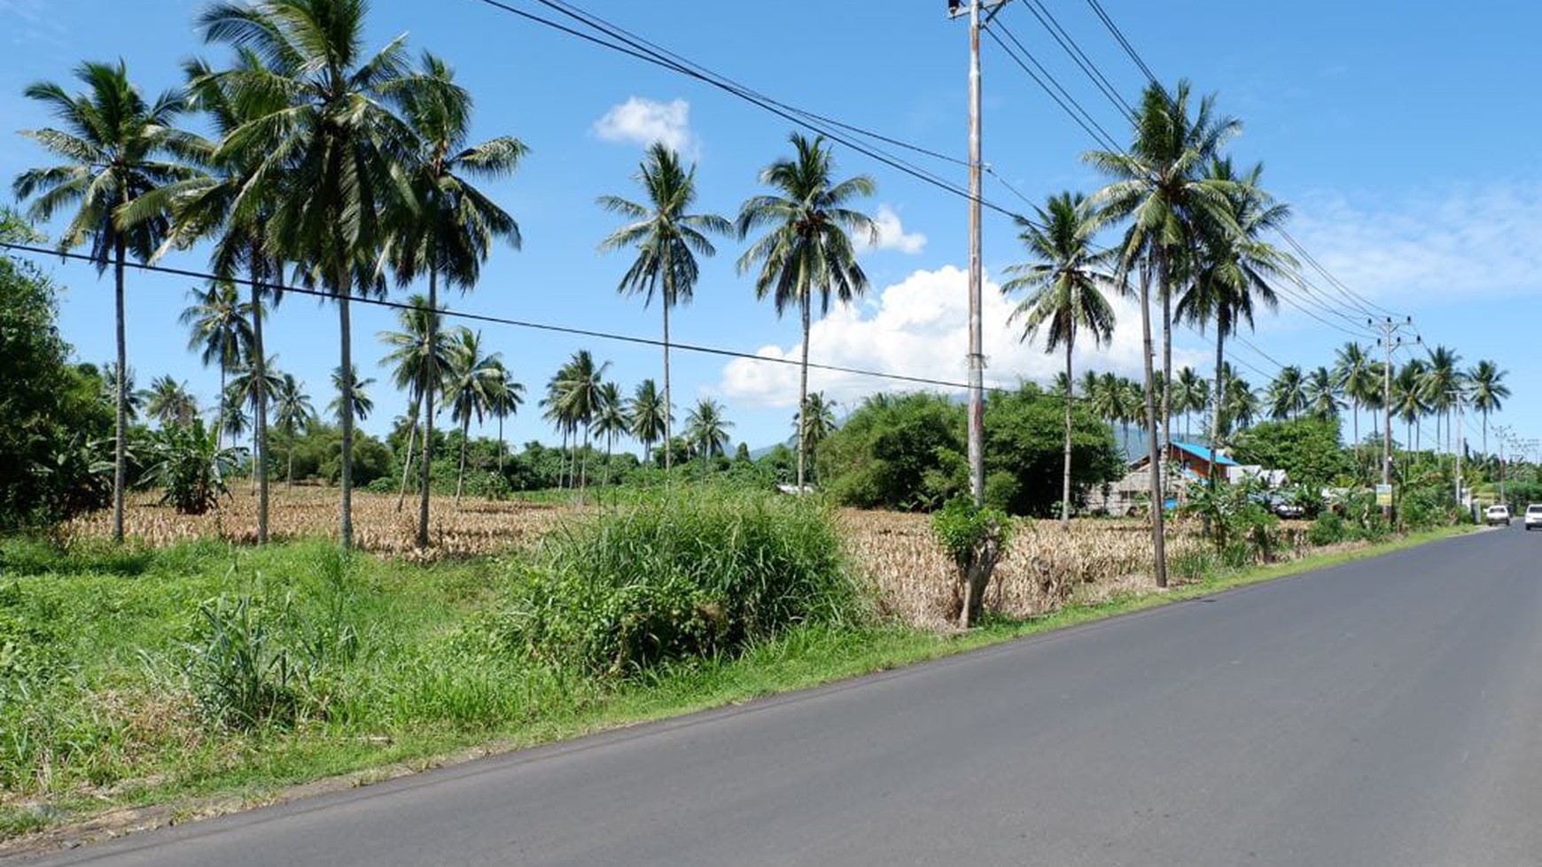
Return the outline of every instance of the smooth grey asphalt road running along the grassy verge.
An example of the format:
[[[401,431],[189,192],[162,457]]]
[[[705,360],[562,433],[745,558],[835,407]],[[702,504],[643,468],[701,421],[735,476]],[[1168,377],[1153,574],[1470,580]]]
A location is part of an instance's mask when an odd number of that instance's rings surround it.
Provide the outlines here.
[[[1519,525],[82,849],[100,865],[1537,865]]]

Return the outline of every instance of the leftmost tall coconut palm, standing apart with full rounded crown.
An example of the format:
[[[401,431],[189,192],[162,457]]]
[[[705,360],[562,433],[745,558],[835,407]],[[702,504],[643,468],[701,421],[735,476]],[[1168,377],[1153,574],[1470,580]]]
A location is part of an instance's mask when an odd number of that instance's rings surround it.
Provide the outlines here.
[[[187,179],[187,166],[162,157],[179,157],[188,149],[190,137],[173,128],[183,111],[177,91],[167,91],[154,102],[128,80],[128,68],[120,60],[82,63],[76,77],[86,92],[71,95],[52,82],[26,88],[28,99],[37,100],[59,120],[60,128],[29,129],[22,134],[37,142],[62,162],[48,168],[23,171],[12,183],[20,199],[34,199],[29,217],[39,223],[69,213],[69,222],[59,236],[59,249],[91,245],[91,260],[100,276],[113,268],[114,310],[117,322],[117,370],[128,368],[128,343],[123,320],[123,269],[128,257],[146,262],[165,237],[168,220],[163,213],[125,225],[119,217],[125,206],[153,189]],[[116,394],[113,454],[113,541],[123,541],[123,491],[126,488],[128,393],[119,382]]]

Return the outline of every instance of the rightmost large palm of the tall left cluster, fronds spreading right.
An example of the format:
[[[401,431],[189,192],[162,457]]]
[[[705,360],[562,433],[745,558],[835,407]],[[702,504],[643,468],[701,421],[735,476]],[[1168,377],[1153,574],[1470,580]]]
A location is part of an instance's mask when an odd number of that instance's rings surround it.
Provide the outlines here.
[[[439,303],[439,279],[452,288],[470,291],[481,277],[481,265],[493,245],[504,240],[520,248],[520,225],[473,180],[493,180],[513,174],[527,149],[512,136],[480,145],[469,143],[472,99],[455,83],[455,72],[433,54],[423,55],[418,75],[426,86],[402,94],[402,115],[413,131],[416,146],[410,166],[415,208],[392,240],[390,260],[401,280],[427,274],[429,306]],[[438,322],[429,322],[429,342],[436,339]],[[438,359],[424,359],[429,379],[435,379]],[[418,500],[418,545],[429,545],[429,473],[433,462],[433,390],[423,393],[424,451],[423,491]],[[501,454],[500,454],[501,459]]]

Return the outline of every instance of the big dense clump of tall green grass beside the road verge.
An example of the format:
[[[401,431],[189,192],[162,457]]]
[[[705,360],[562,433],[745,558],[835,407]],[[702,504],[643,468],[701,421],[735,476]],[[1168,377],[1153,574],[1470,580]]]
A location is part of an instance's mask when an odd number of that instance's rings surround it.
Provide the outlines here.
[[[550,536],[495,628],[535,659],[625,676],[850,622],[862,599],[825,507],[666,496]]]

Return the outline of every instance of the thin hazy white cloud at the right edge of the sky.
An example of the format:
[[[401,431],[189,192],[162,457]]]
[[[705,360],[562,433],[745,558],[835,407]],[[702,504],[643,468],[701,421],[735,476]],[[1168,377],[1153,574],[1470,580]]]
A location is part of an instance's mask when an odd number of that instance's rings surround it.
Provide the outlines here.
[[[1295,234],[1335,277],[1394,310],[1542,288],[1542,183],[1396,200],[1303,202]],[[1308,268],[1308,279],[1323,285]]]

